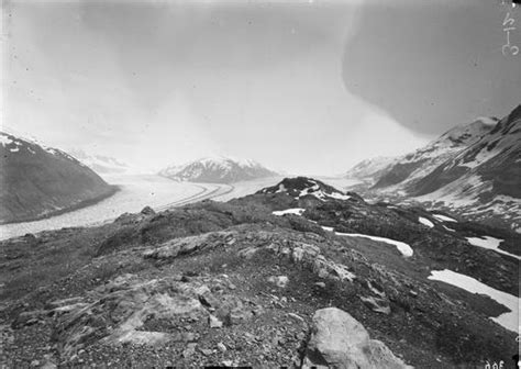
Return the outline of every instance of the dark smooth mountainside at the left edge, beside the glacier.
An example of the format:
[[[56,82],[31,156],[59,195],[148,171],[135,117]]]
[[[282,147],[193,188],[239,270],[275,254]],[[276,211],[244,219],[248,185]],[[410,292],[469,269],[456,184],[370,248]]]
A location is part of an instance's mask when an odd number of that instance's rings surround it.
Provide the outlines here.
[[[0,223],[78,208],[115,188],[67,153],[0,132]]]

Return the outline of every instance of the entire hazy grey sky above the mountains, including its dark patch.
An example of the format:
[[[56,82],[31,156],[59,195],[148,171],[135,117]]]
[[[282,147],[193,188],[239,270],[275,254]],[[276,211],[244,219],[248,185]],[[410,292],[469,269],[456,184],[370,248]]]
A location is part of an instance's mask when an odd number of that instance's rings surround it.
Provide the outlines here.
[[[143,170],[341,174],[521,102],[500,3],[4,1],[2,125]]]

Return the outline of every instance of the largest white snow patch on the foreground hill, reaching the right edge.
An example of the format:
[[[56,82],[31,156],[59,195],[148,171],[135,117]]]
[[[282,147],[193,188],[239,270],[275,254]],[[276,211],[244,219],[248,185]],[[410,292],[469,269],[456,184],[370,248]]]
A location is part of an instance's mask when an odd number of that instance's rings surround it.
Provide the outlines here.
[[[432,270],[431,276],[429,276],[429,279],[442,281],[458,287],[470,293],[486,294],[490,297],[490,299],[500,303],[501,305],[507,306],[508,309],[510,309],[510,312],[501,314],[498,317],[491,317],[491,320],[502,325],[507,329],[518,333],[518,311],[521,299],[512,294],[492,289],[491,287],[488,287],[487,284],[481,283],[474,278],[461,275],[448,269]]]

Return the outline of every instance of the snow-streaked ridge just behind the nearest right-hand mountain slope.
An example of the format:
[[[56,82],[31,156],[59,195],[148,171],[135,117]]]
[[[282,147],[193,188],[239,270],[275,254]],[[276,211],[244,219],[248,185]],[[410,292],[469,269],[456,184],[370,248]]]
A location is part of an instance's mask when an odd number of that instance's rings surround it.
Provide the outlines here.
[[[494,119],[478,119],[468,125],[450,130],[426,146],[380,169],[377,175],[381,175],[375,180],[374,187],[381,189],[396,186],[402,189],[413,185],[456,153],[479,141],[494,128],[495,123],[497,120]]]

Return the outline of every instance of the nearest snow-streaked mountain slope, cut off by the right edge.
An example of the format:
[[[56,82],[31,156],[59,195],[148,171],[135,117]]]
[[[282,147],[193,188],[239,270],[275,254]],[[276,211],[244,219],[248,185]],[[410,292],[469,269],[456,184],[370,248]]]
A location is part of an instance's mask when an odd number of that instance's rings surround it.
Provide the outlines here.
[[[520,183],[521,105],[410,187],[408,193],[475,216],[502,215],[521,231]]]

